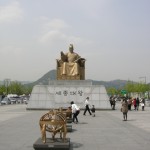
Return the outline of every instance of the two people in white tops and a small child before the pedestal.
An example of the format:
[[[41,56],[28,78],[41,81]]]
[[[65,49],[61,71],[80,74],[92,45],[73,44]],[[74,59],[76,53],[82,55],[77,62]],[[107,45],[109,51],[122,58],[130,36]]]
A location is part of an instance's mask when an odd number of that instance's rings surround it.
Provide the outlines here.
[[[71,103],[71,109],[72,109],[72,122],[78,123],[78,115],[80,113],[80,108],[77,106],[77,104],[72,101]],[[83,115],[86,115],[86,112],[89,112],[90,115],[95,117],[95,106],[92,105],[92,108],[90,109],[90,104],[89,104],[89,97],[86,98],[85,100],[85,109]]]

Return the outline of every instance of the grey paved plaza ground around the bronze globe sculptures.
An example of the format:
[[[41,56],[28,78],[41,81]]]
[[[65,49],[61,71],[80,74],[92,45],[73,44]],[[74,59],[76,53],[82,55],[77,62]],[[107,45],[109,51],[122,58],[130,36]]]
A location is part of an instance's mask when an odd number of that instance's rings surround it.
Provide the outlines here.
[[[27,111],[25,104],[0,106],[0,150],[33,150],[41,136],[39,119],[47,111]],[[70,150],[149,150],[150,107],[130,111],[122,121],[119,104],[114,111],[97,111],[96,117],[79,114],[73,124]]]

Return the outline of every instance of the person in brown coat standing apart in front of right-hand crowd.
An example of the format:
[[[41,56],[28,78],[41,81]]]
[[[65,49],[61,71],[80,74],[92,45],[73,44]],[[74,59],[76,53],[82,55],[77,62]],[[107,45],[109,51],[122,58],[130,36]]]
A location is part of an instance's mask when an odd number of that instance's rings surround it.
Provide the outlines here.
[[[127,121],[128,102],[125,98],[123,99],[123,102],[122,102],[121,111],[123,113],[123,119],[124,119],[123,121]]]

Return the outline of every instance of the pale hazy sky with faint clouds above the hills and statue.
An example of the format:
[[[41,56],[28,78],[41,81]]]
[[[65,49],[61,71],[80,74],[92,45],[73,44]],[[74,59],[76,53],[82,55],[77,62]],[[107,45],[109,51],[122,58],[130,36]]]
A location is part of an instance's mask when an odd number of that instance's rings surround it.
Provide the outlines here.
[[[149,0],[0,0],[0,80],[36,81],[60,51],[85,78],[150,82]]]

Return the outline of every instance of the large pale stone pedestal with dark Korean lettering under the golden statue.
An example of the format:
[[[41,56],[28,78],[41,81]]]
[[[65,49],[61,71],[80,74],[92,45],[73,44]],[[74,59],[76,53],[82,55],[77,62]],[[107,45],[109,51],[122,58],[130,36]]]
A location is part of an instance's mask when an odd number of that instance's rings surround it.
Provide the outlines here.
[[[109,97],[103,85],[94,85],[86,80],[55,80],[49,85],[34,86],[27,109],[55,109],[69,107],[74,101],[81,109],[89,97],[96,109],[111,109]]]

